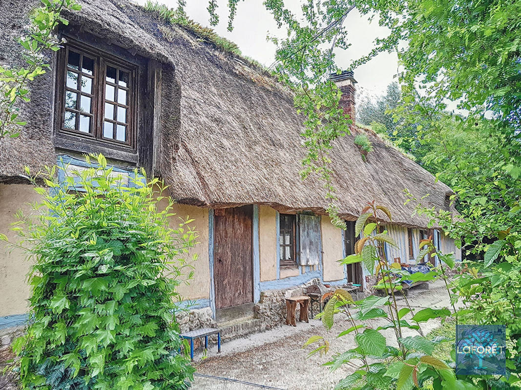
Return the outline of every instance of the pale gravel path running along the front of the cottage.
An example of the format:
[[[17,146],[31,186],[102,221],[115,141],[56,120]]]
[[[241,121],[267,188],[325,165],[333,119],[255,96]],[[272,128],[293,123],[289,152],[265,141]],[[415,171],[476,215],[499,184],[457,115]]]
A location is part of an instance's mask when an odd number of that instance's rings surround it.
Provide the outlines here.
[[[403,300],[403,298],[400,298]],[[442,281],[429,285],[428,290],[418,287],[410,290],[407,297],[415,308],[441,308],[449,305],[449,298]],[[342,316],[343,317],[343,316]],[[354,333],[336,339],[338,333],[351,327],[351,324],[339,316],[331,331],[322,327],[318,320],[308,323],[297,322],[297,326],[282,326],[277,329],[258,333],[225,343],[221,354],[212,348],[208,357],[196,364],[197,372],[235,380],[272,386],[287,390],[332,389],[342,378],[350,373],[346,366],[330,372],[322,363],[334,353],[344,352],[355,346]],[[371,326],[385,323],[379,320],[367,321]],[[425,333],[439,326],[439,321],[431,320],[422,324]],[[388,330],[386,337],[392,337]],[[407,329],[405,335],[416,335]],[[313,335],[320,335],[330,342],[327,356],[313,355],[306,359],[312,348],[302,345]],[[255,390],[255,386],[215,379],[197,377],[195,390]]]

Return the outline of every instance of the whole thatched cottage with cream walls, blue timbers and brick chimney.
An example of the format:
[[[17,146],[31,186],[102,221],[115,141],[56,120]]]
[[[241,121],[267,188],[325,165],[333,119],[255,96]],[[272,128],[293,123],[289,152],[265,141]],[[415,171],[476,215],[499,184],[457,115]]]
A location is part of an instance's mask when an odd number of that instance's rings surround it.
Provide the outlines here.
[[[22,61],[16,38],[37,3],[4,2],[0,64]],[[102,152],[121,171],[144,167],[165,180],[179,214],[195,218],[200,231],[195,278],[183,294],[209,321],[222,321],[267,313],[278,292],[311,280],[367,288],[361,265],[337,261],[352,251],[352,221],[368,200],[391,210],[388,230],[401,249],[386,250],[402,262],[429,234],[428,221],[404,205],[403,189],[418,199],[430,194],[425,205],[453,211],[449,187],[376,134],[353,128],[366,132],[374,151],[364,161],[353,136],[336,142],[333,185],[348,229],[334,228],[317,178],[300,179],[303,118],[287,90],[249,61],[130,2],[80,4],[58,30],[65,48],[48,54],[51,71],[22,107],[26,128],[0,140],[1,232],[37,198],[24,166],[38,172],[58,161],[81,165],[82,154]],[[335,81],[344,109],[354,112],[353,74]],[[438,245],[456,251],[453,240],[434,234]],[[27,311],[22,258],[0,246],[0,327]],[[266,326],[278,317],[270,318]]]

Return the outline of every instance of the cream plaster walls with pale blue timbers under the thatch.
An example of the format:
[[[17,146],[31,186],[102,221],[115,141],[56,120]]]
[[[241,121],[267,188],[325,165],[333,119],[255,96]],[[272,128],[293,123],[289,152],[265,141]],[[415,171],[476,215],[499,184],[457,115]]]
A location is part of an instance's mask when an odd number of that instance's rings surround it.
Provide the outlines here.
[[[0,185],[0,232],[7,234],[9,239],[14,238],[14,233],[9,232],[10,223],[14,222],[14,214],[18,209],[30,210],[27,203],[34,202],[38,195],[31,186],[27,185]],[[166,204],[166,200],[162,201]],[[257,207],[257,206],[255,206]],[[318,265],[300,265],[294,267],[280,267],[278,258],[278,219],[279,213],[269,206],[254,207],[253,215],[253,283],[254,302],[258,300],[258,292],[271,289],[290,288],[305,283],[314,278],[329,284],[342,284],[346,281],[344,266],[338,260],[344,257],[342,231],[332,226],[326,216],[317,216],[319,231],[317,232],[317,245],[320,253]],[[257,212],[258,210],[258,212]],[[181,284],[178,291],[183,299],[194,303],[197,307],[212,307],[212,210],[201,207],[175,204],[176,216],[170,217],[172,227],[177,227],[179,218],[194,219],[191,225],[199,232],[197,244],[187,255],[193,261],[194,277],[189,284]],[[415,260],[408,256],[407,229],[395,225],[387,225],[389,235],[398,243],[399,248],[385,245],[387,257],[392,262],[395,257],[400,257],[402,263],[413,263]],[[419,229],[412,229],[413,251],[416,257],[418,253]],[[255,239],[257,237],[257,239]],[[454,240],[443,233],[435,231],[435,242],[439,237],[440,249],[444,253],[454,252],[457,260],[461,259],[461,251],[457,250]],[[16,249],[6,248],[5,243],[0,242],[0,316],[16,317],[27,313],[27,298],[29,287],[25,280],[29,264],[24,259],[23,253]],[[187,269],[187,273],[190,272]],[[367,270],[364,270],[367,275]],[[366,280],[363,280],[364,288],[367,288]],[[1,325],[1,324],[0,324]]]

